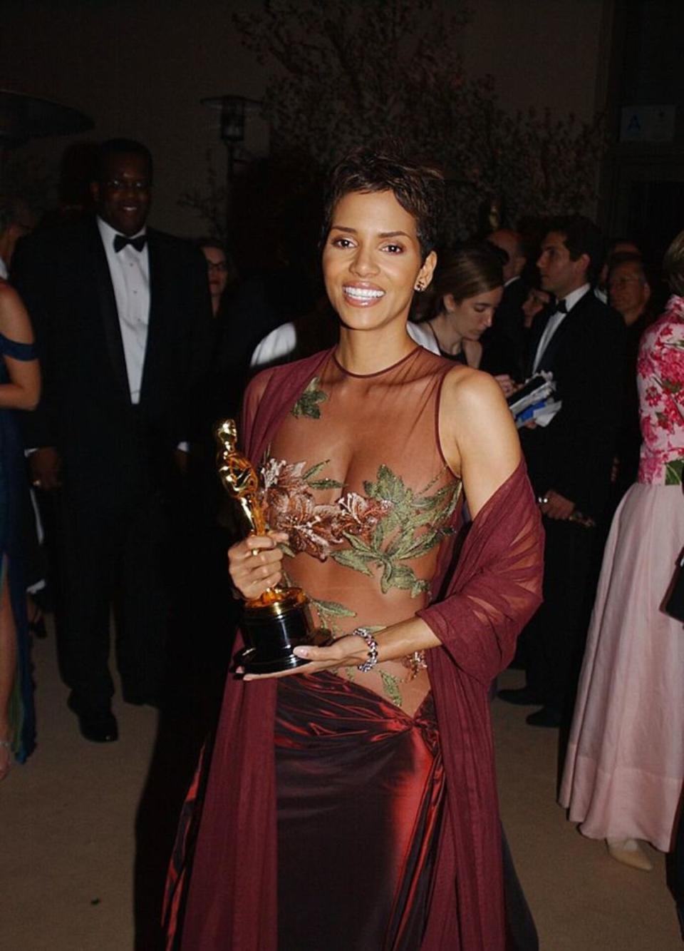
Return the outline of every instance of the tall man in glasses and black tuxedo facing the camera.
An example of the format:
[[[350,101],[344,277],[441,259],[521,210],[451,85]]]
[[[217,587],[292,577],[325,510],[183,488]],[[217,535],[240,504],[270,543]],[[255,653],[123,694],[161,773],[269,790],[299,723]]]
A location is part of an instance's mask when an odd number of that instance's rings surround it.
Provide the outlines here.
[[[108,669],[116,619],[123,699],[159,704],[168,622],[168,509],[191,405],[208,369],[199,250],[145,226],[148,150],[112,140],[97,215],[36,232],[13,277],[34,321],[44,395],[26,423],[34,486],[59,490],[60,661],[86,739],[117,739]]]

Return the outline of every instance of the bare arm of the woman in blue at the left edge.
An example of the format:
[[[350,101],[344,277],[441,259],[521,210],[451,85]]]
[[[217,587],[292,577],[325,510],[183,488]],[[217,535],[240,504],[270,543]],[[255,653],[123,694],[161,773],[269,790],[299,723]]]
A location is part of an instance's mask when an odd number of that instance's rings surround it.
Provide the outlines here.
[[[9,284],[0,282],[0,334],[13,343],[33,343],[33,330],[21,298]],[[4,355],[10,382],[0,383],[0,408],[32,410],[40,398],[37,359]]]

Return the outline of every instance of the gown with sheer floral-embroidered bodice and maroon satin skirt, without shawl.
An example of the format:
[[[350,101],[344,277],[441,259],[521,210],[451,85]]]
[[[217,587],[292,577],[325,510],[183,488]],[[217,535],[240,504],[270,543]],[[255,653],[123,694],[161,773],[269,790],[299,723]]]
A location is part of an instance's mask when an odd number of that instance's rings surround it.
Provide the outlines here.
[[[451,368],[420,347],[368,377],[332,357],[267,447],[263,501],[289,536],[285,573],[333,636],[428,603],[461,497],[438,437]],[[445,789],[423,655],[280,680],[276,777],[278,947],[420,946]],[[304,919],[297,896],[314,879]]]

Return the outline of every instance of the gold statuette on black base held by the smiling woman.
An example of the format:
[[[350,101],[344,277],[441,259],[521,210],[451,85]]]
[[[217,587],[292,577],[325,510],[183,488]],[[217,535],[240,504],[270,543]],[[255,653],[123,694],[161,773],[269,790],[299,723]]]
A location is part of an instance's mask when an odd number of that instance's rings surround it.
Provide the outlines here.
[[[259,480],[250,460],[237,449],[234,419],[218,423],[218,477],[228,495],[235,498],[249,526],[249,534],[268,531],[259,498]],[[273,673],[308,664],[293,649],[301,644],[323,644],[328,631],[316,631],[309,611],[309,599],[301,588],[276,585],[257,598],[245,601],[240,623],[244,650],[237,663],[247,673]]]

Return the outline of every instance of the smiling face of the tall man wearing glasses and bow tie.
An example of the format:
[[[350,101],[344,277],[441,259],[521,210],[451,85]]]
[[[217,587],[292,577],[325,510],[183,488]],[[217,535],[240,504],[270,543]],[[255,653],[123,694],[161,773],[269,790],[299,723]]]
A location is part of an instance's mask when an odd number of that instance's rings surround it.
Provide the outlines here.
[[[106,155],[90,190],[104,222],[128,237],[142,230],[152,201],[152,169],[143,155]]]

